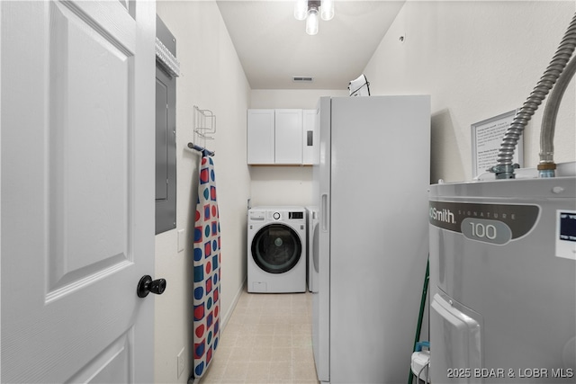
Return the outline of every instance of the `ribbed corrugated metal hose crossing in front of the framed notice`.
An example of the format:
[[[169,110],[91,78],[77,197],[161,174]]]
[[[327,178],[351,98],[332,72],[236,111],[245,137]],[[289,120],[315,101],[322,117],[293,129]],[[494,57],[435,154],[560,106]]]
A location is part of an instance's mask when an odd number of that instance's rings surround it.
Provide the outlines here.
[[[546,68],[544,75],[540,78],[538,84],[536,84],[536,87],[528,96],[527,101],[514,117],[514,120],[502,139],[497,157],[497,165],[491,168],[491,172],[496,174],[497,179],[513,179],[515,177],[512,159],[514,157],[514,150],[518,145],[518,139],[527,126],[528,121],[532,119],[538,106],[544,101],[546,95],[562,74],[566,63],[568,63],[572,57],[574,49],[576,49],[576,13],[574,13],[572,22],[570,22],[568,30],[564,34],[558,49],[556,49],[556,53]]]

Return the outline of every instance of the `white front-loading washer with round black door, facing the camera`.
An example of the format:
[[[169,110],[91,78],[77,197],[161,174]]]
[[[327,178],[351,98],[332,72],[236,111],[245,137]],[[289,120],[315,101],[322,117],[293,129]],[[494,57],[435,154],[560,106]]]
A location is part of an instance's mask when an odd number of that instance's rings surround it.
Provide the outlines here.
[[[304,207],[248,210],[248,292],[306,291],[306,231]]]

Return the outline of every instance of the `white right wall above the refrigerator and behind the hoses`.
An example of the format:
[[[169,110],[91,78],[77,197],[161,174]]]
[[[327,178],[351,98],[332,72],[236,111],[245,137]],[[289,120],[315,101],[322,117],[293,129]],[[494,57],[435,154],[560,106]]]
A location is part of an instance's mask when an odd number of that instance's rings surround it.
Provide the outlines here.
[[[372,94],[432,95],[433,182],[472,178],[471,124],[522,106],[562,40],[574,7],[574,2],[550,1],[404,5],[365,75]],[[556,125],[556,162],[576,158],[574,103],[572,81]],[[525,131],[525,166],[539,160],[543,110]]]

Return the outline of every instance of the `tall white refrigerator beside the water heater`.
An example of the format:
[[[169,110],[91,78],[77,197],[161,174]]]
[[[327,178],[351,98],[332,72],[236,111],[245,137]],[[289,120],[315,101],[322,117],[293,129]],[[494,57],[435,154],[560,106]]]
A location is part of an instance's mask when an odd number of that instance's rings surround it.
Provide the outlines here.
[[[318,113],[318,378],[406,382],[428,258],[430,97],[322,97]]]

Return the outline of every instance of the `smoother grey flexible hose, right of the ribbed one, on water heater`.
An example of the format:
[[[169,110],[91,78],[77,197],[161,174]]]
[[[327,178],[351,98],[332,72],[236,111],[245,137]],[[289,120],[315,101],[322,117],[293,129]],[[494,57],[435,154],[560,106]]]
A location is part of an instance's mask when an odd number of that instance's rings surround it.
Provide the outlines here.
[[[550,97],[546,102],[544,114],[542,115],[542,128],[540,129],[540,164],[538,170],[540,177],[554,177],[554,129],[556,127],[556,116],[560,109],[560,102],[564,91],[572,81],[576,73],[576,55],[572,57],[568,65],[564,68],[554,89],[550,92]]]

